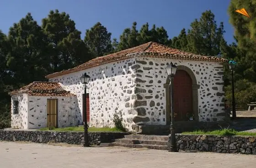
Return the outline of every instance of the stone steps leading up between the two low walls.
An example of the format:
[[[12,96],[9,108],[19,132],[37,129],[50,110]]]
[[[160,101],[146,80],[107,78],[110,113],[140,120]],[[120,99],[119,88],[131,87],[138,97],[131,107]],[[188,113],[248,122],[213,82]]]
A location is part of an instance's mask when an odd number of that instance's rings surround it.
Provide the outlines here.
[[[101,146],[167,150],[168,136],[129,134],[125,135],[124,138],[116,139],[114,143],[102,143]]]

